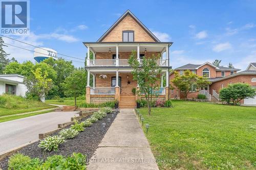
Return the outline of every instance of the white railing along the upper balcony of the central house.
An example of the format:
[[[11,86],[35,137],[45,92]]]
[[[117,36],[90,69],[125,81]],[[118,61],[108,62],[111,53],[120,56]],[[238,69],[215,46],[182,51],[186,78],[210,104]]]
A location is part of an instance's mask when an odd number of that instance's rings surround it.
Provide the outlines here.
[[[116,62],[118,61],[118,62]],[[142,59],[139,59],[142,62]],[[159,66],[168,66],[168,60],[157,60]],[[128,59],[98,59],[90,60],[90,64],[87,66],[129,66]]]

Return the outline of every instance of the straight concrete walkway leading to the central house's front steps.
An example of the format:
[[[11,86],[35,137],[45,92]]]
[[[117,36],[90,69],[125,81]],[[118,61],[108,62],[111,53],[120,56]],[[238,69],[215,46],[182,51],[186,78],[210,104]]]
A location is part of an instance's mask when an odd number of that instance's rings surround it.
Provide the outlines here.
[[[121,109],[88,169],[158,169],[133,109]]]

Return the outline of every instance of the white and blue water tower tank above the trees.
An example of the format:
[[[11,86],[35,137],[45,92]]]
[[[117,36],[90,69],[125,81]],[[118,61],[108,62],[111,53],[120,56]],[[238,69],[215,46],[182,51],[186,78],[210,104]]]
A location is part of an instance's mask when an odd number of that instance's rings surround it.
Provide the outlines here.
[[[58,59],[57,52],[51,48],[45,48],[45,47],[35,48],[34,59],[38,63],[49,57],[52,57],[53,59],[57,60]]]

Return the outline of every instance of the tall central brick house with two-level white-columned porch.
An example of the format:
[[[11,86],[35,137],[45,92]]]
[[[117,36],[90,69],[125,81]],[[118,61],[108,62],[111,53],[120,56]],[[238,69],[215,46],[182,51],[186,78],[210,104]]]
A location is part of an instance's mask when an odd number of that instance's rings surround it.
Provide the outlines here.
[[[86,69],[88,84],[86,89],[87,103],[118,101],[120,108],[136,106],[140,97],[134,95],[133,88],[139,88],[131,74],[132,68],[128,58],[135,50],[137,59],[155,54],[160,55],[158,64],[162,68],[159,75],[160,98],[169,98],[169,83],[163,87],[163,76],[169,75],[169,47],[172,42],[161,42],[143,23],[127,10],[96,42],[83,42],[87,47]],[[90,52],[93,59],[90,59]],[[90,76],[93,85],[90,86]],[[169,77],[166,82],[169,82]],[[142,95],[143,97],[143,95]]]

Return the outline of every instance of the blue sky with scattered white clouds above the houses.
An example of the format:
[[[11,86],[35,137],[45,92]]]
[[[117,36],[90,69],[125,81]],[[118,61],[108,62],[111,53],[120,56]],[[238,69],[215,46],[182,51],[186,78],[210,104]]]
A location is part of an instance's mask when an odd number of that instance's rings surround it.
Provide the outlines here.
[[[130,9],[160,40],[172,41],[173,68],[215,59],[245,69],[256,62],[256,1],[30,1],[30,35],[22,41],[84,59],[82,41],[98,38]],[[7,43],[33,47],[4,39]],[[18,61],[33,53],[7,47]],[[61,56],[59,56],[61,57]],[[65,57],[67,58],[67,57]],[[70,58],[67,58],[70,59]],[[75,66],[83,66],[73,62]]]

